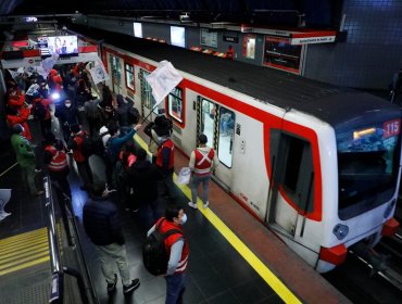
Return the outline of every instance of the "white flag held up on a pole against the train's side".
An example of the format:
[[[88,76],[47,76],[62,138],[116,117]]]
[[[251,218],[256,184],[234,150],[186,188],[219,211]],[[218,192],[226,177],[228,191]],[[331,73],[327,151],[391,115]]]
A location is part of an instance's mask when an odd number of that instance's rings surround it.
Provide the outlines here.
[[[164,60],[155,71],[146,76],[146,80],[152,88],[152,96],[156,101],[154,106],[156,106],[183,80],[183,76],[171,62]]]

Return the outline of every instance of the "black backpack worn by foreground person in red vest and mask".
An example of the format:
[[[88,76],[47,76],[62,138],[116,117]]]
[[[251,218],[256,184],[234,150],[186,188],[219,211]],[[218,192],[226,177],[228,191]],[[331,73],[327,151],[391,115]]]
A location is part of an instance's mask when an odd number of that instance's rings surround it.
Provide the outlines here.
[[[183,236],[183,232],[177,229],[161,233],[160,229],[164,220],[165,218],[158,224],[155,230],[147,237],[142,244],[143,266],[154,276],[164,275],[167,270],[168,253],[165,248],[165,239],[175,233]]]

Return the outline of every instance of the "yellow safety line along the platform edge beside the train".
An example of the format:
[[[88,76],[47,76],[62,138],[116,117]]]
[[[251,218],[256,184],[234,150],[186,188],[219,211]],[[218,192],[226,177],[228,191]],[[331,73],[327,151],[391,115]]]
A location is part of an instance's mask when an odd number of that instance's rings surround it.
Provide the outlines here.
[[[138,135],[135,136],[138,143],[148,151],[147,143]],[[177,176],[174,175],[174,181],[176,183]],[[183,191],[183,193],[191,200],[191,191],[187,185],[176,186]],[[202,202],[198,198],[197,204],[202,215],[211,221],[211,224],[221,232],[222,236],[235,248],[236,251],[254,268],[254,270],[261,276],[261,278],[280,296],[285,303],[302,303],[289,289],[284,284],[269,268],[260,261],[260,258],[223,223],[215,213],[210,208],[202,208]]]

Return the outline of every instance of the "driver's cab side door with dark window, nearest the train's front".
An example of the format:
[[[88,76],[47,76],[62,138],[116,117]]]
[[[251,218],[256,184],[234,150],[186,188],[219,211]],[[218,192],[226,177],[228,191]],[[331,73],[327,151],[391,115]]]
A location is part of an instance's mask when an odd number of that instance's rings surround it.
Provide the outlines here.
[[[309,141],[271,130],[272,185],[268,195],[271,227],[289,238],[302,237],[305,214],[313,208],[314,169]],[[300,227],[298,227],[298,225]],[[297,231],[300,233],[296,236]]]

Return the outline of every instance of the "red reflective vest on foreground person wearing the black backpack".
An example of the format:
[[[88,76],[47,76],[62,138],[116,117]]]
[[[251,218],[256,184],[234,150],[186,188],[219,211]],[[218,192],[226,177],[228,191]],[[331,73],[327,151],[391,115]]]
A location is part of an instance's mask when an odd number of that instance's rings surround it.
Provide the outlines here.
[[[155,226],[159,225],[159,221],[162,220],[162,218],[160,218]],[[179,231],[183,231],[181,229],[181,226],[178,225],[176,226],[174,223],[172,221],[168,221],[168,220],[164,220],[161,225],[161,233],[165,233],[167,232],[168,230],[172,230],[172,229],[176,229],[176,230],[179,230]],[[188,263],[188,255],[190,253],[190,250],[189,250],[189,246],[188,246],[188,242],[186,240],[186,238],[184,237],[184,232],[183,233],[174,233],[169,237],[167,237],[165,239],[165,249],[166,251],[168,252],[169,256],[171,256],[171,249],[172,249],[172,245],[177,242],[178,239],[183,238],[184,239],[184,242],[185,242],[185,245],[183,246],[183,251],[181,251],[181,256],[180,256],[180,261],[178,262],[178,265],[177,265],[177,268],[175,270],[175,274],[180,274],[180,273],[184,273],[187,268],[187,263]]]

